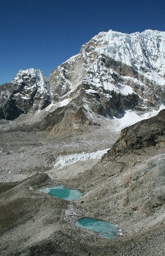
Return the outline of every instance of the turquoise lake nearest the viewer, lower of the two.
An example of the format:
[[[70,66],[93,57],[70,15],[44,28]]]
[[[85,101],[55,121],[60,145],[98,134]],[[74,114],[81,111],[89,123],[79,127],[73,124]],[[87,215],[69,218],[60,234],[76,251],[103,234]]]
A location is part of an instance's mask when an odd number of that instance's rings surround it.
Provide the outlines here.
[[[108,239],[115,238],[120,235],[120,230],[117,225],[104,220],[81,218],[75,222],[75,226],[98,232],[101,237]]]

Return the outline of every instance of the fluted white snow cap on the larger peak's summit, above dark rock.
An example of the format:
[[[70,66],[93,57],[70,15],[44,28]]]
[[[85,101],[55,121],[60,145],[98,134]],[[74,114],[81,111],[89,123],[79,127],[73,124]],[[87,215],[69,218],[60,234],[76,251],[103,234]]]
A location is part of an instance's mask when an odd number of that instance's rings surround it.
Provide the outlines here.
[[[165,32],[145,30],[142,33],[124,34],[109,30],[99,33],[83,49],[105,54],[125,63],[146,78],[164,85]],[[88,54],[87,54],[88,55]]]

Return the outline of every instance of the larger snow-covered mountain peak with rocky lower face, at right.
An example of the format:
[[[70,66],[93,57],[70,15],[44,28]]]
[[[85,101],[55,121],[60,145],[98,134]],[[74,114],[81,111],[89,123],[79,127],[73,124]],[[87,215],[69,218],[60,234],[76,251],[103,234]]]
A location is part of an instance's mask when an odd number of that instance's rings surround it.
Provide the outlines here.
[[[156,30],[99,33],[51,73],[53,102],[73,98],[85,112],[109,117],[159,109],[165,104],[164,45],[165,32]]]

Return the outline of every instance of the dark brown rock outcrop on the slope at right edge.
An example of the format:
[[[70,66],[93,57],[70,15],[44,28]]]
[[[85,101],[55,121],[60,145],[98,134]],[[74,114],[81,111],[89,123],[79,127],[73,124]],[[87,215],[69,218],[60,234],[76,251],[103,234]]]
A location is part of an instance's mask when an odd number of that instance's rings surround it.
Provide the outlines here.
[[[155,117],[142,120],[126,127],[102,161],[112,161],[126,152],[146,147],[165,146],[165,109]]]

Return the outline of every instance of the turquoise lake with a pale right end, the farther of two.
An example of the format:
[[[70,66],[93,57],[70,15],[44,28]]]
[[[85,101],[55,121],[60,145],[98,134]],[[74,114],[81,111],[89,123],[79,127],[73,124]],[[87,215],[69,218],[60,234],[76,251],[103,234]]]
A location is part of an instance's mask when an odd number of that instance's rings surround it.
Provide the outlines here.
[[[68,201],[75,201],[83,196],[83,193],[80,190],[67,188],[63,185],[51,188],[44,188],[40,191],[53,197],[59,197]]]

